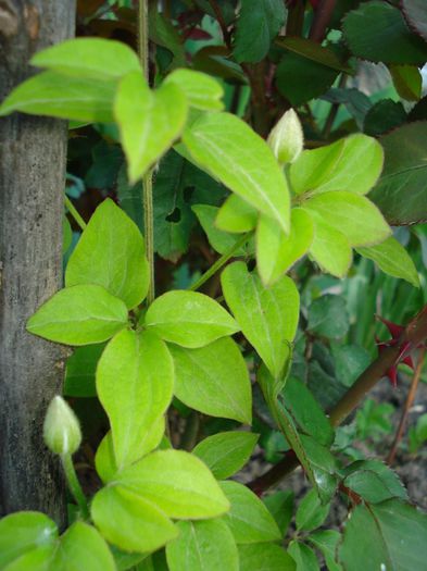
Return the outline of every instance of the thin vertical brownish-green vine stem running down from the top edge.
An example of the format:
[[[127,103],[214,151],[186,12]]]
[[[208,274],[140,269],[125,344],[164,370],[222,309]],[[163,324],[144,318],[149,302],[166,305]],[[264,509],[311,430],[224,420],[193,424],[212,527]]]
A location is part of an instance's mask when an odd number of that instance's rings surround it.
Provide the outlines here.
[[[138,2],[138,53],[141,67],[147,82],[149,74],[149,39],[148,39],[148,0]],[[148,171],[142,178],[142,207],[143,228],[146,233],[146,250],[150,269],[150,284],[147,301],[150,305],[155,296],[154,281],[154,224],[153,224],[153,179],[152,170]]]

